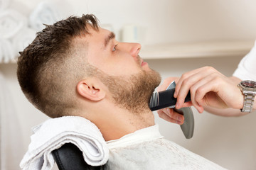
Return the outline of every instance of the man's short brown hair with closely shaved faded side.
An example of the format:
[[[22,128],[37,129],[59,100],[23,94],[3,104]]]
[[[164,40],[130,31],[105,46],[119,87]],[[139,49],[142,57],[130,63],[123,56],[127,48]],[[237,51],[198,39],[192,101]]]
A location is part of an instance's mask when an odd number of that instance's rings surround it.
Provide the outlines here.
[[[85,71],[86,65],[85,56],[78,55],[73,40],[90,34],[88,24],[99,30],[97,18],[89,14],[46,26],[18,57],[17,77],[23,93],[51,118],[74,111],[75,89],[66,88],[75,87],[75,81],[82,79],[85,72],[80,69]]]

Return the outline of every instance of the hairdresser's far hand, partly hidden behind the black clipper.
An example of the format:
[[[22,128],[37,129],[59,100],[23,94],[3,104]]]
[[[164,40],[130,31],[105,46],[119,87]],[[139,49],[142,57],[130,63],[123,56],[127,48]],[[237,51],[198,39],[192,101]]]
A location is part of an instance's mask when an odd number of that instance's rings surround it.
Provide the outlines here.
[[[164,80],[163,84],[157,88],[157,91],[164,91],[167,89],[169,84],[171,84],[172,81],[178,82],[178,77],[169,77]],[[183,107],[191,106],[191,102],[184,103]],[[159,111],[157,111],[160,118],[163,118],[166,121],[169,121],[171,123],[177,123],[178,125],[182,125],[184,122],[183,115],[177,113],[175,109],[173,108],[163,108]]]

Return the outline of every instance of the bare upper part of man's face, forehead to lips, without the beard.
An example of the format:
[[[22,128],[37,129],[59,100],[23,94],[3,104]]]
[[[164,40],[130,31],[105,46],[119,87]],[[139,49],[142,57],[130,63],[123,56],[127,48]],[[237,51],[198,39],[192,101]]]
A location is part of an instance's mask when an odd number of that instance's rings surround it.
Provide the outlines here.
[[[139,57],[141,45],[118,42],[109,30],[89,30],[87,36],[87,61],[110,76],[127,76],[149,71],[149,66]]]

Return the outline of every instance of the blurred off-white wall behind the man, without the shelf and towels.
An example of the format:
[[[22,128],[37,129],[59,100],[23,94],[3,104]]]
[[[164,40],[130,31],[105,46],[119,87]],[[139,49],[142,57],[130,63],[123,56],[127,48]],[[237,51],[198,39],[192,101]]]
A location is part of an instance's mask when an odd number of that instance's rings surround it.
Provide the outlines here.
[[[135,23],[146,30],[145,45],[160,42],[198,42],[207,40],[245,40],[256,38],[256,1],[253,0],[55,0],[71,14],[94,13],[101,23],[112,24],[115,32],[125,23]],[[12,7],[28,15],[38,0],[16,0]],[[68,2],[70,6],[63,5]],[[63,18],[65,18],[63,17]],[[143,57],[143,56],[142,56]],[[230,76],[242,56],[175,60],[148,60],[163,78],[181,76],[183,72],[211,65]],[[18,112],[23,134],[20,152],[26,152],[31,128],[46,120],[23,96],[16,80],[16,64],[0,64]],[[196,128],[191,140],[183,137],[178,125],[156,116],[163,135],[228,169],[256,169],[255,114],[242,118],[223,118],[194,111]],[[16,168],[18,169],[18,168]]]

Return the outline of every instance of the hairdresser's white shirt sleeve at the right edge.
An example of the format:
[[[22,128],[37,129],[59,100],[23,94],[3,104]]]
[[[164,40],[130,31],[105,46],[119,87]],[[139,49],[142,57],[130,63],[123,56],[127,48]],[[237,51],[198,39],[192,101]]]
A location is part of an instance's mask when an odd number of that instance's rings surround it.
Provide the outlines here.
[[[256,81],[256,41],[252,50],[238,64],[238,68],[233,73],[233,76],[241,80]]]

